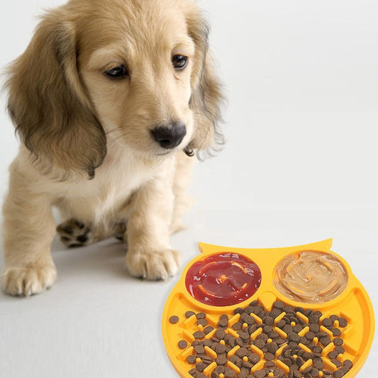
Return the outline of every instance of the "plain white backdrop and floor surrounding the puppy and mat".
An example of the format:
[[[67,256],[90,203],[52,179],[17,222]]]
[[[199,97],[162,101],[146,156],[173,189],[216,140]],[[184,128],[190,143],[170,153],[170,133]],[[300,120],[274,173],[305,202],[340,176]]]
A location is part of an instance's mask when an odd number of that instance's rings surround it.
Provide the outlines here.
[[[104,0],[105,1],[105,0]],[[0,67],[26,48],[53,0],[4,1]],[[196,242],[265,248],[334,238],[378,306],[378,2],[202,0],[225,84],[228,143],[196,167],[196,205],[172,238],[186,264]],[[0,194],[16,155],[0,111]],[[55,286],[40,296],[0,294],[0,376],[162,377],[160,316],[179,277],[139,282],[106,240],[52,245]],[[2,266],[0,258],[0,267]],[[184,265],[183,265],[184,266]],[[377,377],[375,342],[359,378]]]

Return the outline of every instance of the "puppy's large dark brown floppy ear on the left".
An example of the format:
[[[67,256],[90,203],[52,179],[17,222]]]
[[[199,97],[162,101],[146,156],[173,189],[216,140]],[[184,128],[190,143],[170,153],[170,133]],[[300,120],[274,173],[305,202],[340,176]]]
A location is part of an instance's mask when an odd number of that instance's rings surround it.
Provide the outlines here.
[[[60,179],[94,169],[106,155],[106,135],[79,77],[77,37],[52,11],[26,51],[9,67],[8,109],[26,148],[44,173]]]

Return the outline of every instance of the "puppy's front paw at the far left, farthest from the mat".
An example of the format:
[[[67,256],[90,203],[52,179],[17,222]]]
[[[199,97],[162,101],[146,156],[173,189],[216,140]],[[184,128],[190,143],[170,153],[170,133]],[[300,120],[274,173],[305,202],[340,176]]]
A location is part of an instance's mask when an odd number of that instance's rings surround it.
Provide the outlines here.
[[[30,296],[52,287],[56,277],[54,265],[9,267],[1,274],[1,289],[6,294]]]

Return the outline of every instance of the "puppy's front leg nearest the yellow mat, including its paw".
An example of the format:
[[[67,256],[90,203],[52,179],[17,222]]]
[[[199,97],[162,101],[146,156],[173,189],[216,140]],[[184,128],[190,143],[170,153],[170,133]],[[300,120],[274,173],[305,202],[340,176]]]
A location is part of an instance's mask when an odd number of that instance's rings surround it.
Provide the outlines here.
[[[179,268],[179,253],[169,243],[174,195],[172,177],[158,177],[135,195],[128,219],[126,265],[130,274],[167,279]]]

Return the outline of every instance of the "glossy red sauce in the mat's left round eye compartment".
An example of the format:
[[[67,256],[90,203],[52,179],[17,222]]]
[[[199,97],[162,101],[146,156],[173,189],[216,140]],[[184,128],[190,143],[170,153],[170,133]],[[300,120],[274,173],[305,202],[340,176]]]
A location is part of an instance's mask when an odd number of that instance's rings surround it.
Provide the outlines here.
[[[243,255],[223,252],[197,261],[189,268],[185,284],[197,301],[210,306],[231,306],[255,294],[261,272]]]

